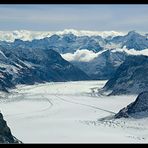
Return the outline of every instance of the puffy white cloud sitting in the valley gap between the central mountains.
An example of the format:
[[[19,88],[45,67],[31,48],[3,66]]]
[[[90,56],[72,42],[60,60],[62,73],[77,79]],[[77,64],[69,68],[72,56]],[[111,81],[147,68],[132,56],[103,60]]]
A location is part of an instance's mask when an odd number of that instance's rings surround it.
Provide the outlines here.
[[[95,53],[88,49],[77,50],[75,53],[66,53],[61,54],[61,56],[67,61],[79,61],[79,62],[90,62],[93,59],[97,58],[102,52]]]

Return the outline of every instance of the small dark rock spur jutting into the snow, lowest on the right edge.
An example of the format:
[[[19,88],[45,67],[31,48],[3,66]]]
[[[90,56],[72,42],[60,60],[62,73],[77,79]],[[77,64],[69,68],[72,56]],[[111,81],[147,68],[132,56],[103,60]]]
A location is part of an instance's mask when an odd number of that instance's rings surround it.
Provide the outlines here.
[[[135,102],[123,108],[115,115],[115,118],[122,117],[148,117],[148,91],[140,93]]]

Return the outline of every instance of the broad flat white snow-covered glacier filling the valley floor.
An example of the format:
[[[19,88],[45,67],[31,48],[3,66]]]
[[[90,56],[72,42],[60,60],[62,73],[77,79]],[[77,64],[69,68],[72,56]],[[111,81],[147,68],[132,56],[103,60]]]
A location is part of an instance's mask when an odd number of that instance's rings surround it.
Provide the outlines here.
[[[148,119],[113,119],[137,96],[101,96],[106,81],[19,85],[0,109],[23,143],[147,143]]]

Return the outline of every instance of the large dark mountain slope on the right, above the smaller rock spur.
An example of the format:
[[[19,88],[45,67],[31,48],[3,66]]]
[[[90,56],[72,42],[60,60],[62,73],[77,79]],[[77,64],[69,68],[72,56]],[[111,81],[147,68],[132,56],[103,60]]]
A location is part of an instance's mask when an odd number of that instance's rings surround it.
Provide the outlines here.
[[[111,95],[139,94],[148,90],[148,57],[129,56],[103,88]]]

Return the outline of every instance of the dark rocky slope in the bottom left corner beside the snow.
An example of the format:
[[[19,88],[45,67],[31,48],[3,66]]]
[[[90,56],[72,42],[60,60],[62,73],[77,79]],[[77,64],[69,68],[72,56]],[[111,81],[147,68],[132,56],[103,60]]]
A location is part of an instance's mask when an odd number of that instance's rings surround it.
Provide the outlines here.
[[[21,143],[21,141],[14,138],[11,134],[10,128],[7,126],[6,121],[3,119],[3,115],[0,113],[0,143]]]

